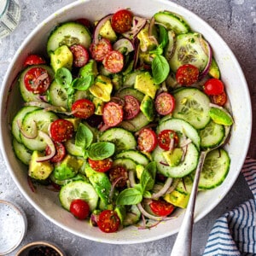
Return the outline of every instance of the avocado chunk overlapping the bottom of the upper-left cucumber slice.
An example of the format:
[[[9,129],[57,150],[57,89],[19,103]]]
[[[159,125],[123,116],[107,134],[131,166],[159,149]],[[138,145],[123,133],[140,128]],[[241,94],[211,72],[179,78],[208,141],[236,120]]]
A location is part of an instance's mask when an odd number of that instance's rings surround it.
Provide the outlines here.
[[[73,65],[73,53],[67,45],[61,45],[55,51],[50,52],[50,65],[56,72],[61,67],[71,70]]]

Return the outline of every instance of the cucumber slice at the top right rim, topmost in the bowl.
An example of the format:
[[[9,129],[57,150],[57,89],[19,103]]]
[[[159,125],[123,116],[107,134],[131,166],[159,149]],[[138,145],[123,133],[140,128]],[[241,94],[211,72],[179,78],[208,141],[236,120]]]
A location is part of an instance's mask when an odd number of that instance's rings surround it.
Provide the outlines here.
[[[189,32],[189,25],[177,14],[162,11],[154,15],[154,20],[166,26],[167,30],[173,30],[176,34]]]

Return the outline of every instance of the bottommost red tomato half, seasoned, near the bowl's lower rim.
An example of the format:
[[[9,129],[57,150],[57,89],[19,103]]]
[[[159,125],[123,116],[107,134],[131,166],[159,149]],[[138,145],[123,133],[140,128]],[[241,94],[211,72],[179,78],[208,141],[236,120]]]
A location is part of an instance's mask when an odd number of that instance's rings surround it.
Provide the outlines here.
[[[104,210],[99,215],[98,227],[105,233],[113,233],[119,229],[120,219],[113,210]]]

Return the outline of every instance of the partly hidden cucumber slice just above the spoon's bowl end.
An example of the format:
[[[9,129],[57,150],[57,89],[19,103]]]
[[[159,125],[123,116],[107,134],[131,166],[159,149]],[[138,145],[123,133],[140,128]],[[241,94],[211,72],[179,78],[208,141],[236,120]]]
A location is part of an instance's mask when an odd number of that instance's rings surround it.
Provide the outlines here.
[[[210,121],[204,129],[199,131],[201,148],[214,148],[218,146],[222,142],[224,134],[224,125],[218,125]]]

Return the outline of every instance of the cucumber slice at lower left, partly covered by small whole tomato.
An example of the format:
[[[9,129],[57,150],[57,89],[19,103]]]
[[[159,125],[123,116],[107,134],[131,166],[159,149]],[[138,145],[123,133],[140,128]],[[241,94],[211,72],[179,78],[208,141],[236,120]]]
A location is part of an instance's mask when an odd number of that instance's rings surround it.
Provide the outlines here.
[[[90,206],[90,212],[96,209],[98,195],[90,183],[83,180],[73,181],[64,185],[59,194],[61,206],[69,211],[70,204],[74,199],[83,199]]]

